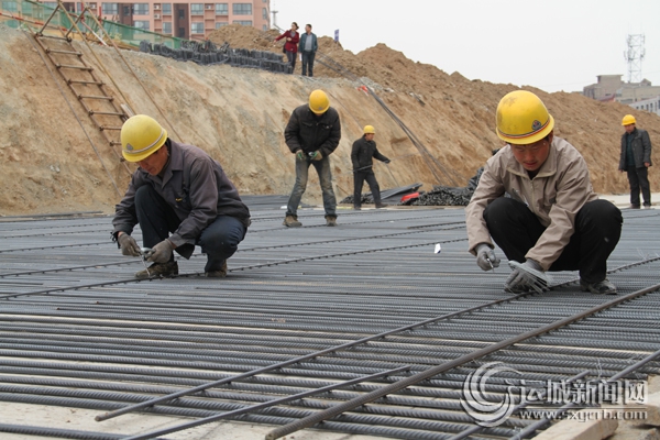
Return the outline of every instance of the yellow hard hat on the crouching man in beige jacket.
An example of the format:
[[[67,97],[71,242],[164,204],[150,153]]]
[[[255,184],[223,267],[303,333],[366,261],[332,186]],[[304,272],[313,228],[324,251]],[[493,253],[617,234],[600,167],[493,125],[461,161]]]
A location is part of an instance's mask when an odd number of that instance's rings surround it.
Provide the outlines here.
[[[553,128],[554,118],[531,91],[512,91],[497,105],[497,135],[509,144],[532,144]]]

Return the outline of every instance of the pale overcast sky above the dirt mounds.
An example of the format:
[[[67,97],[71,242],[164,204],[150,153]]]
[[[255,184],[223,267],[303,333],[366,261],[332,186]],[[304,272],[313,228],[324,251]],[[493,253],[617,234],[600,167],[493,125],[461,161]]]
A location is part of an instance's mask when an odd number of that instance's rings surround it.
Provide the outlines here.
[[[660,0],[271,0],[277,25],[311,23],[359,53],[377,43],[448,74],[575,91],[623,75],[645,34],[642,77],[660,86]]]

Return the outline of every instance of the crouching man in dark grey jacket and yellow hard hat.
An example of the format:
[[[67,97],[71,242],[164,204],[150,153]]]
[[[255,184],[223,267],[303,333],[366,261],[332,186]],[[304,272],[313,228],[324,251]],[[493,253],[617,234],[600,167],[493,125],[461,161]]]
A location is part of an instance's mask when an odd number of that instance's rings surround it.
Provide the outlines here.
[[[140,223],[148,270],[135,277],[173,276],[173,251],[189,258],[195,245],[207,254],[206,276],[224,277],[227,258],[250,224],[250,211],[222,167],[206,152],[174,142],[154,119],[138,114],[121,129],[123,157],[140,167],[116,207],[113,241],[124,255],[140,256],[131,237]]]

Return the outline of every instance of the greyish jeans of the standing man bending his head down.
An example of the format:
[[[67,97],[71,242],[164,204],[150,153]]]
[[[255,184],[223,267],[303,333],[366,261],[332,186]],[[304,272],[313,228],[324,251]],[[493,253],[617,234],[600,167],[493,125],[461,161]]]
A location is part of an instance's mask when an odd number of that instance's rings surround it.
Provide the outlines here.
[[[310,161],[307,157],[304,157],[302,161],[298,161],[296,157],[296,183],[294,184],[294,190],[292,191],[292,196],[289,197],[286,207],[286,215],[297,216],[298,205],[300,205],[300,199],[307,188],[309,165],[314,165],[319,175],[326,216],[337,217],[337,199],[334,198],[334,191],[332,190],[332,173],[330,172],[330,160],[328,157],[323,157],[320,161]]]

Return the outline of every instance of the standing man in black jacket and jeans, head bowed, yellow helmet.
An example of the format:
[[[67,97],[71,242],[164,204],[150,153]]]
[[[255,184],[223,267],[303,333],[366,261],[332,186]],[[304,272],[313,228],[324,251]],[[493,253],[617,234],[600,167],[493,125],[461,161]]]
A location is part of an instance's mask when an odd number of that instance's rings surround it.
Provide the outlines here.
[[[296,157],[296,183],[287,204],[283,224],[289,228],[302,226],[298,221],[298,205],[307,188],[309,165],[314,165],[321,184],[326,224],[336,227],[337,199],[332,190],[329,156],[339,145],[341,123],[339,113],[330,107],[330,100],[323,90],[312,91],[309,95],[309,102],[294,110],[284,129],[284,139]]]

